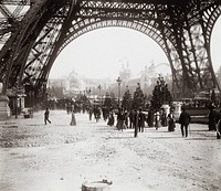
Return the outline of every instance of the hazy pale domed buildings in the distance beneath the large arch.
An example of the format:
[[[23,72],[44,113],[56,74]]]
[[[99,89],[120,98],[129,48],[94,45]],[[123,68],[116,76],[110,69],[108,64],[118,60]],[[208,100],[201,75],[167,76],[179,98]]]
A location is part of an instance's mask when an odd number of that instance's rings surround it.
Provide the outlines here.
[[[151,62],[150,66],[145,66],[144,71],[139,74],[133,75],[133,71],[129,68],[129,64],[123,65],[119,71],[120,82],[120,95],[124,94],[126,88],[129,88],[133,93],[137,84],[140,85],[144,93],[147,95],[152,92],[152,88],[158,79],[159,70],[158,66]],[[157,71],[157,72],[156,72]],[[161,70],[162,71],[162,70]],[[60,83],[59,83],[60,82]],[[64,95],[71,96],[81,93],[85,93],[90,89],[90,94],[106,94],[113,92],[116,96],[118,95],[118,84],[116,79],[110,78],[88,78],[78,75],[75,71],[72,71],[66,77],[62,79],[50,79],[49,86],[62,86]],[[98,89],[98,86],[102,88]]]

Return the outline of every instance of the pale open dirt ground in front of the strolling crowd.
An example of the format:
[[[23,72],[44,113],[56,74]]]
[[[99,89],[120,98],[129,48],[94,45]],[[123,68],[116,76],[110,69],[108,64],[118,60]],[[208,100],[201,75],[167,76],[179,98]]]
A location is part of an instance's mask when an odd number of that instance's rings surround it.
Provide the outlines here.
[[[182,138],[167,127],[118,131],[104,120],[51,110],[0,121],[1,191],[81,191],[82,183],[108,180],[112,191],[221,190],[221,140],[207,125],[191,124]]]

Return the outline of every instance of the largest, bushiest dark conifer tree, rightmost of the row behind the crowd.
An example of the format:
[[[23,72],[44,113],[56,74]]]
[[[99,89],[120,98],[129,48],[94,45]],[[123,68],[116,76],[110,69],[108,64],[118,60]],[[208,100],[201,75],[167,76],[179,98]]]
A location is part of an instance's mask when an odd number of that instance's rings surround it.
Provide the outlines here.
[[[152,96],[150,100],[151,107],[155,110],[159,110],[164,104],[170,105],[171,100],[172,100],[171,93],[169,92],[164,77],[159,76],[157,85],[152,91]]]

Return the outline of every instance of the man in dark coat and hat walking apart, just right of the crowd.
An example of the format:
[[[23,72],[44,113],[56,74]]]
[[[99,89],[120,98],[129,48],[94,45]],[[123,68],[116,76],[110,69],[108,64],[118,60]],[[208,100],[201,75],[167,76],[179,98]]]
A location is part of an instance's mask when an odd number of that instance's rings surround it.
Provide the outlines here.
[[[179,117],[179,124],[180,124],[180,128],[181,128],[181,134],[182,134],[182,137],[188,137],[188,126],[191,121],[191,117],[189,115],[189,113],[186,112],[186,108],[182,107],[182,112],[180,114],[180,117]]]

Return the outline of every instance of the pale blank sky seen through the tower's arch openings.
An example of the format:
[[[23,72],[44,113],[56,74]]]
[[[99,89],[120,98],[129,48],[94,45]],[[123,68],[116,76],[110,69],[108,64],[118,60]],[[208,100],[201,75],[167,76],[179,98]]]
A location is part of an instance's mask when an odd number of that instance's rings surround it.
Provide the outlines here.
[[[221,18],[211,39],[214,71],[221,66]],[[146,34],[125,28],[104,28],[91,31],[72,41],[57,56],[50,78],[67,76],[72,71],[90,78],[117,78],[119,71],[129,65],[133,75],[151,63],[169,63],[161,47]],[[170,67],[157,67],[170,74]]]

